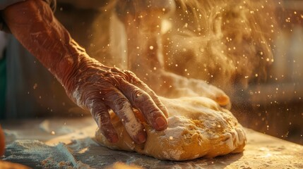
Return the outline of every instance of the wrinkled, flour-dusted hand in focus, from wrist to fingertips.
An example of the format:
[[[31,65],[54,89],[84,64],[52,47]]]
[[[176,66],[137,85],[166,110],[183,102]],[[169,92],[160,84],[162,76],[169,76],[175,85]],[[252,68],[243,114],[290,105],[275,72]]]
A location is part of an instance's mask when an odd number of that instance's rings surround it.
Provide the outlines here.
[[[90,110],[109,142],[118,142],[118,134],[110,121],[109,108],[119,116],[137,144],[145,142],[146,133],[133,114],[133,108],[141,111],[155,130],[167,127],[165,106],[155,92],[128,70],[109,68],[87,56],[63,80],[63,84],[66,93],[78,106]]]

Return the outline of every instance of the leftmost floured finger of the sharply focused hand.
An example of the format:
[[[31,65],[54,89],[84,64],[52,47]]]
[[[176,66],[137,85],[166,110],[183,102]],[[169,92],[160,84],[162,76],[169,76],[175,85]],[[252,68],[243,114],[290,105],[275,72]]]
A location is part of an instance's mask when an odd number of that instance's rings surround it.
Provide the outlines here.
[[[119,141],[118,134],[114,130],[114,126],[111,123],[110,115],[107,110],[107,106],[98,99],[91,100],[88,103],[90,113],[93,115],[95,122],[100,128],[102,134],[107,138],[108,142],[117,143]]]

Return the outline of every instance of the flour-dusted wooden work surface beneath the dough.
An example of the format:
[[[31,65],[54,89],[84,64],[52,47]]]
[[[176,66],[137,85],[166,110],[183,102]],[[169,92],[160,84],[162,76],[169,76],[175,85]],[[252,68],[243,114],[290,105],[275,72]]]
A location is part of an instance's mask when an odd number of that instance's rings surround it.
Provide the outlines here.
[[[117,161],[143,168],[303,168],[303,146],[249,129],[242,154],[174,162],[99,146],[93,141],[96,125],[90,117],[1,121],[1,125],[7,144],[2,159],[32,168],[43,168],[45,163],[105,168]]]

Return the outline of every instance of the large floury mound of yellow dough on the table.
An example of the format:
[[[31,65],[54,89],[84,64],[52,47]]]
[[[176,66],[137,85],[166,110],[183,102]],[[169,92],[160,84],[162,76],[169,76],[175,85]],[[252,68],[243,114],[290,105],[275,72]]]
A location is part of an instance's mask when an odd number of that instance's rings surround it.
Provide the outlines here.
[[[168,127],[156,131],[141,120],[148,134],[145,144],[134,144],[117,115],[111,113],[119,142],[112,144],[97,129],[95,138],[110,149],[136,151],[163,160],[184,161],[242,152],[246,135],[234,115],[205,97],[160,98],[168,109]]]

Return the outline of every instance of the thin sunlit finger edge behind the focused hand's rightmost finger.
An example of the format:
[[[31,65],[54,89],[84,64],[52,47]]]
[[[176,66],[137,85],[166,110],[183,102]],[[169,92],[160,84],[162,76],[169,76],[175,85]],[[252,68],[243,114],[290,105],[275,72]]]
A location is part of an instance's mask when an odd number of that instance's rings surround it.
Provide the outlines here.
[[[157,96],[157,94],[155,94],[155,92],[153,92],[153,90],[150,89],[148,87],[148,85],[144,84],[143,82],[138,82],[136,84],[136,86],[139,87],[140,89],[143,89],[148,95],[150,95],[150,97],[153,99],[153,101],[158,106],[158,108],[160,108],[160,110],[165,115],[165,117],[168,118],[167,108],[164,106],[164,104],[162,104],[162,102],[160,101],[160,99]]]

